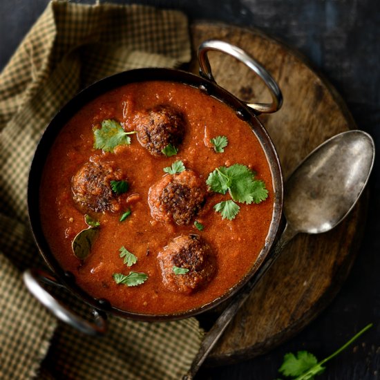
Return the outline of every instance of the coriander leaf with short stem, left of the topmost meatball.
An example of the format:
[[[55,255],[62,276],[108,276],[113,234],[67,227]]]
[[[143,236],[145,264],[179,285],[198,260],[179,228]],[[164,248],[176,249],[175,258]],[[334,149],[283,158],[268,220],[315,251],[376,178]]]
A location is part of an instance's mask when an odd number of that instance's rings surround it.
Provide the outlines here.
[[[103,120],[102,128],[94,131],[94,148],[102,149],[104,152],[113,152],[118,145],[131,144],[131,137],[136,131],[126,132],[115,120]]]

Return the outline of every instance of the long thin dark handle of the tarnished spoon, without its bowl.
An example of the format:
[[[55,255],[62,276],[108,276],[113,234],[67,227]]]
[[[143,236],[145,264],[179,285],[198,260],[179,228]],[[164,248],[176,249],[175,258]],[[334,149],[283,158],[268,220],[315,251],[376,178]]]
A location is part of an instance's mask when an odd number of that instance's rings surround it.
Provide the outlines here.
[[[264,274],[267,272],[269,267],[272,266],[274,261],[280,256],[281,251],[283,250],[283,247],[289,243],[294,236],[296,236],[297,231],[294,231],[289,225],[285,225],[285,229],[283,230],[283,234],[281,234],[280,238],[278,239],[276,246],[274,247],[271,254],[269,254],[267,260],[265,260],[265,263],[263,263],[263,266],[258,269],[258,272],[251,278],[251,280],[243,287],[243,289],[236,294],[232,298],[231,303],[225,308],[225,310],[220,314],[216,322],[213,324],[213,327],[207,332],[205,339],[203,339],[200,349],[198,351],[198,354],[193,360],[193,363],[191,363],[191,368],[189,372],[187,372],[186,375],[182,378],[182,380],[192,380],[193,377],[198,372],[200,366],[207,358],[208,354],[213,349],[213,346],[216,345],[216,342],[219,340],[220,336],[222,336],[223,332],[225,332],[227,326],[232,321],[240,307],[245,303],[249,295],[251,294],[251,291],[254,289],[254,287],[257,285],[258,281],[260,281],[260,278],[264,276]]]

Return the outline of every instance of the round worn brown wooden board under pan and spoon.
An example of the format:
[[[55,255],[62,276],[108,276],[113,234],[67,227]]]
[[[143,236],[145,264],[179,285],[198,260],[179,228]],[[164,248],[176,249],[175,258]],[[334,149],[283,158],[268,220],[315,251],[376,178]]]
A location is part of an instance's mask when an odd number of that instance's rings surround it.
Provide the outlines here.
[[[193,23],[191,35],[195,49],[213,38],[243,48],[280,86],[283,107],[259,118],[276,146],[285,180],[316,146],[336,133],[356,128],[334,88],[303,57],[280,42],[257,30],[202,22]],[[218,84],[240,99],[269,101],[265,86],[243,64],[221,53],[211,52],[209,58]],[[198,71],[196,58],[191,70]],[[260,281],[206,363],[227,364],[263,354],[310,323],[332,301],[350,272],[363,234],[366,206],[366,197],[362,197],[332,231],[296,236]]]

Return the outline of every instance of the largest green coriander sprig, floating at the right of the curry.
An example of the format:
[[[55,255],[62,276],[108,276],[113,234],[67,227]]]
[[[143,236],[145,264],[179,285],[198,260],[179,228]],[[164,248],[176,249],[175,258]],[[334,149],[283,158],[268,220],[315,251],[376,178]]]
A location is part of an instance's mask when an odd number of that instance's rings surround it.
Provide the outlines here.
[[[260,203],[268,196],[264,182],[255,180],[251,169],[242,164],[216,168],[209,174],[206,183],[216,193],[225,194],[228,191],[232,198],[213,207],[222,214],[223,219],[236,217],[240,209],[236,202],[250,205],[252,202]]]

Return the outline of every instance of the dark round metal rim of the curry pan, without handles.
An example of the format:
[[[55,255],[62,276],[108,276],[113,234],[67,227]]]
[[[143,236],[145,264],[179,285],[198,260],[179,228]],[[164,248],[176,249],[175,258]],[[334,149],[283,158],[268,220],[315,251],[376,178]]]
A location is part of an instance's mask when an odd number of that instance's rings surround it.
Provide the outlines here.
[[[79,111],[84,104],[91,102],[91,100],[95,99],[99,95],[126,84],[151,81],[180,82],[185,85],[200,88],[201,91],[215,97],[224,104],[227,104],[230,108],[234,109],[238,117],[245,120],[245,122],[251,126],[252,131],[263,147],[263,151],[267,157],[267,162],[269,163],[269,168],[272,175],[272,186],[274,190],[272,222],[269,226],[267,238],[265,239],[265,245],[258,254],[258,257],[256,258],[256,261],[251,269],[249,269],[243,278],[240,278],[238,283],[225,292],[225,294],[215,298],[213,301],[205,305],[193,307],[190,310],[184,310],[182,312],[175,312],[171,314],[142,314],[130,312],[112,306],[109,301],[104,300],[103,298],[95,298],[90,296],[84,289],[82,289],[82,287],[79,287],[79,285],[75,283],[75,276],[71,272],[64,271],[53,255],[53,252],[50,251],[50,247],[42,231],[41,219],[39,215],[39,184],[41,182],[44,164],[46,162],[46,158],[48,157],[50,147],[68,120],[70,120],[70,118],[73,117],[73,115],[75,115],[75,113],[77,113],[77,111]],[[269,137],[263,124],[261,124],[260,120],[258,120],[257,116],[258,113],[249,108],[245,102],[229,93],[229,91],[225,90],[225,88],[220,87],[216,84],[216,82],[184,70],[173,68],[137,68],[133,70],[126,70],[122,73],[117,73],[115,75],[111,75],[110,77],[100,79],[77,93],[77,95],[70,99],[66,105],[64,105],[57,112],[46,127],[44,133],[41,135],[41,139],[35,149],[35,155],[32,159],[28,176],[28,216],[32,234],[41,256],[44,258],[53,274],[57,277],[59,283],[64,285],[66,289],[77,296],[77,298],[82,299],[82,301],[91,307],[94,307],[96,310],[102,310],[102,312],[109,312],[127,319],[135,319],[140,321],[169,321],[183,319],[210,310],[211,308],[220,305],[220,303],[227,300],[227,298],[234,296],[234,294],[236,294],[236,292],[238,292],[238,290],[241,289],[254,275],[258,268],[263,264],[267,256],[269,256],[270,248],[278,238],[283,213],[283,174],[280,160],[271,138]]]

